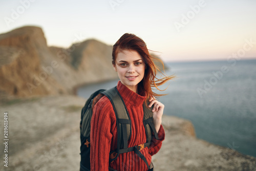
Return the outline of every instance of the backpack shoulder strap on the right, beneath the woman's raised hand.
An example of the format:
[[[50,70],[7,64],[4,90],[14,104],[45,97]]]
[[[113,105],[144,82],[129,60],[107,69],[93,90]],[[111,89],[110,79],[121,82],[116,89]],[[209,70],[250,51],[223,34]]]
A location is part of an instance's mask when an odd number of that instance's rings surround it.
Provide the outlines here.
[[[149,102],[147,101],[149,104]],[[154,133],[155,138],[158,140],[158,134],[155,129],[155,126],[153,124],[153,112],[152,112],[153,106],[151,108],[148,108],[146,103],[143,103],[143,123],[146,131],[146,143],[150,145],[152,140],[152,133]]]

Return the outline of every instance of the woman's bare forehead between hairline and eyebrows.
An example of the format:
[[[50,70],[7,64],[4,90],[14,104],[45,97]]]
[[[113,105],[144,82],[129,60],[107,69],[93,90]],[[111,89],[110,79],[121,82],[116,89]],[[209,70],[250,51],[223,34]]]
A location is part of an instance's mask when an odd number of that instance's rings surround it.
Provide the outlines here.
[[[117,62],[121,60],[130,62],[130,61],[135,61],[139,59],[142,59],[142,57],[135,50],[122,50],[117,54],[117,57],[116,57]]]

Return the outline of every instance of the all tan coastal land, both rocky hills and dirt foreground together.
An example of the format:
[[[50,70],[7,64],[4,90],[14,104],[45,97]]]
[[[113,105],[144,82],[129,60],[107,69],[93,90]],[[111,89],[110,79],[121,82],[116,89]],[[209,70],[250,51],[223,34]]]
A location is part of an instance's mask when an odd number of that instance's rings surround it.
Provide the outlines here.
[[[0,112],[8,113],[9,133],[8,167],[1,153],[0,170],[79,170],[86,99],[74,88],[117,78],[112,46],[90,39],[48,47],[42,29],[27,26],[0,34],[0,52]],[[256,158],[197,139],[188,120],[166,114],[162,124],[166,137],[153,156],[155,170],[256,170]]]

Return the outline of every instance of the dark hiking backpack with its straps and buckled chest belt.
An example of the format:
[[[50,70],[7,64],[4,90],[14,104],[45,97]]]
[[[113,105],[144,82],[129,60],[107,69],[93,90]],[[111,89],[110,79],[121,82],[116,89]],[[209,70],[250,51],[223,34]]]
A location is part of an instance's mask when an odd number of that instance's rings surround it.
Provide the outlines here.
[[[132,152],[134,151],[135,154],[138,155],[147,165],[148,170],[150,169],[150,165],[148,165],[146,158],[140,151],[145,148],[149,147],[151,144],[152,136],[158,140],[158,134],[156,132],[155,126],[153,124],[153,112],[151,109],[147,107],[147,105],[143,104],[143,124],[145,127],[146,132],[146,142],[143,144],[138,144],[134,147],[128,147],[128,140],[131,137],[132,126],[131,126],[131,119],[130,115],[126,109],[124,101],[119,94],[116,87],[109,89],[109,90],[98,90],[94,92],[89,99],[84,104],[81,110],[81,121],[80,121],[80,171],[90,170],[90,132],[91,132],[91,118],[93,114],[93,106],[96,102],[102,97],[106,96],[110,99],[115,115],[116,115],[116,122],[117,122],[117,148],[110,152],[110,160],[109,163],[113,162],[117,159],[119,154]],[[114,170],[109,168],[109,170]]]

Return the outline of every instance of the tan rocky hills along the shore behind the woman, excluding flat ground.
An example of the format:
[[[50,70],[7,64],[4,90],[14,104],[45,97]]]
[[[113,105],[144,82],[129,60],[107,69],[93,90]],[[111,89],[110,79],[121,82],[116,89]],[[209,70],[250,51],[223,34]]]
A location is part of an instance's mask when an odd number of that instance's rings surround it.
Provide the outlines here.
[[[48,47],[39,27],[0,34],[0,95],[72,94],[82,84],[116,79],[112,46],[90,39],[70,48]]]

